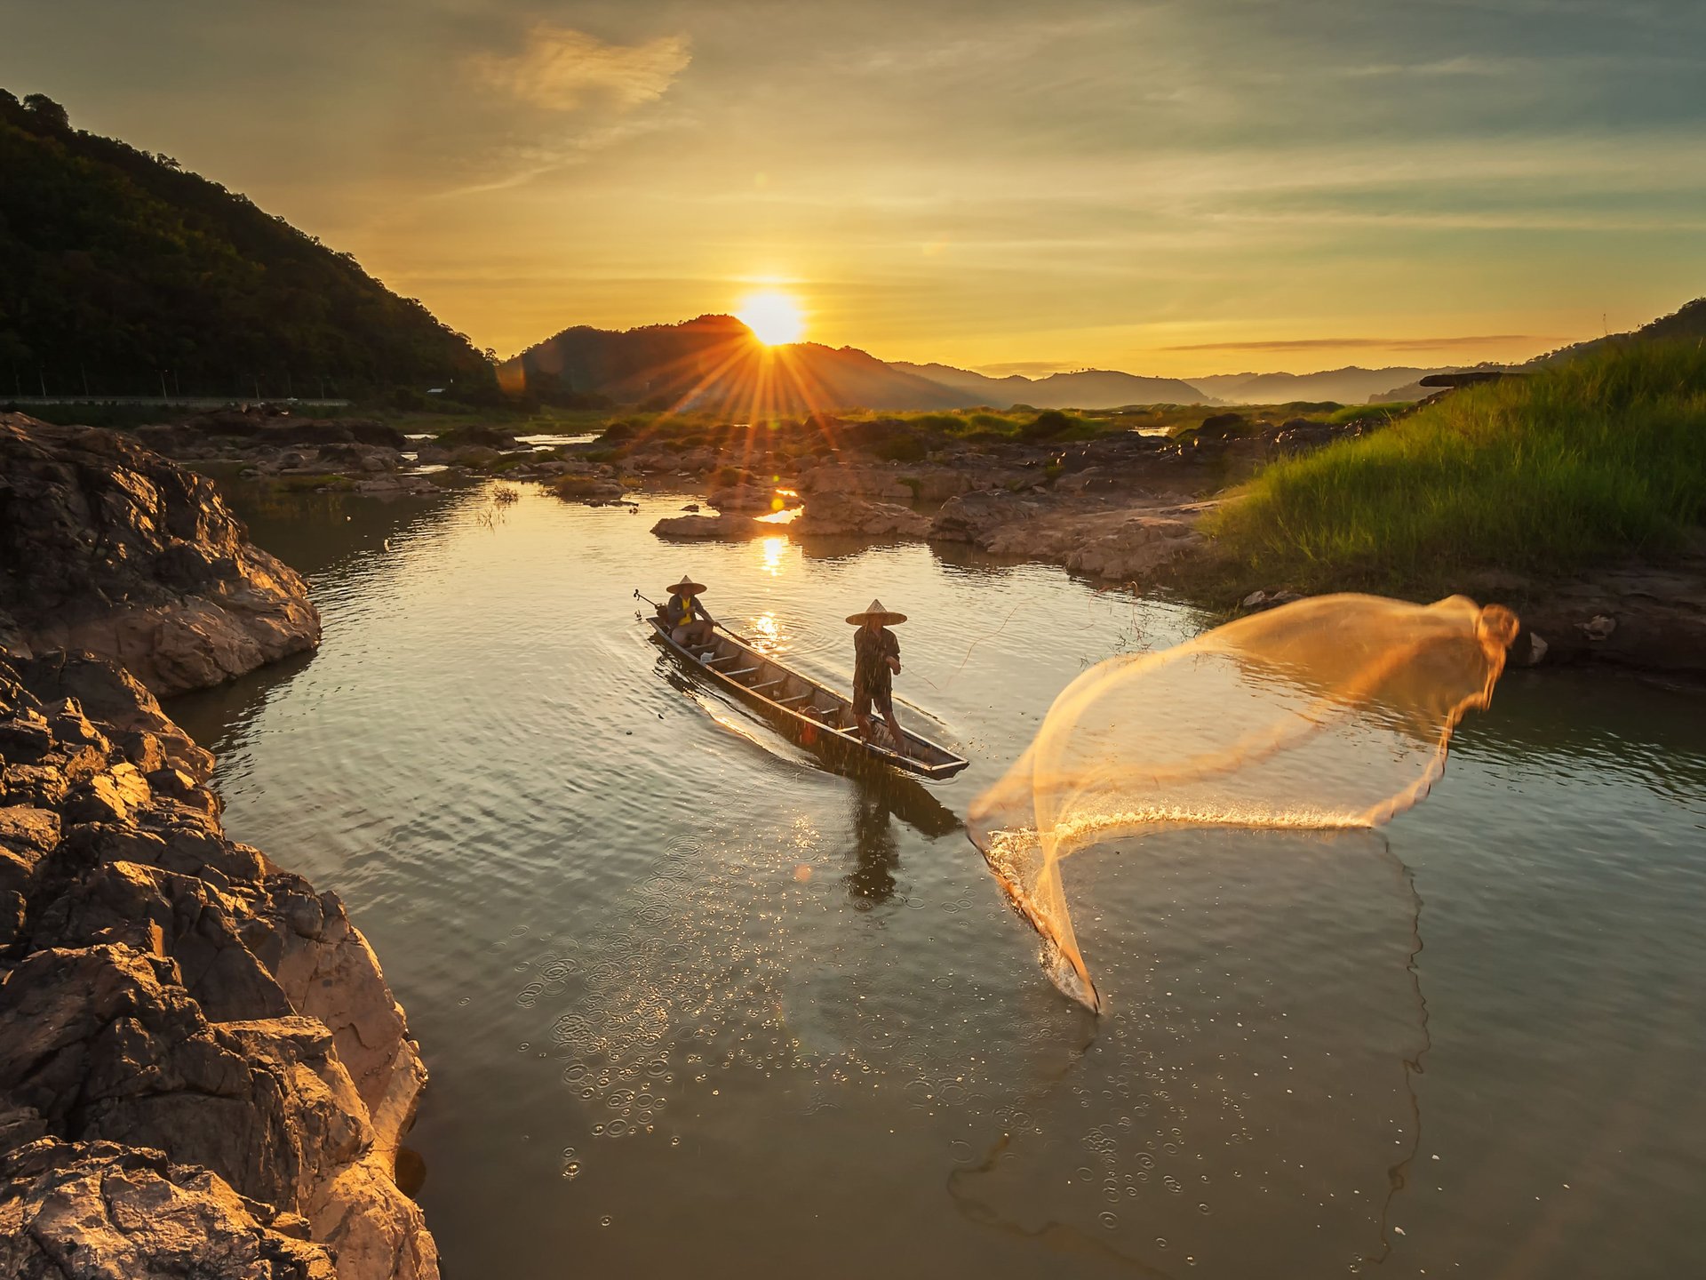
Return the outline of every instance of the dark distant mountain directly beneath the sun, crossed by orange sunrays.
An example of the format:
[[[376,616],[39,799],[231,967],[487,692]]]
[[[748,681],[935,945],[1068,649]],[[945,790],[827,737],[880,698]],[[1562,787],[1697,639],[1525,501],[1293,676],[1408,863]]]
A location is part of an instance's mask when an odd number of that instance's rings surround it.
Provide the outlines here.
[[[950,410],[966,393],[851,346],[764,346],[734,316],[638,329],[563,329],[498,367],[512,394],[573,393],[657,408],[773,416],[812,410]]]

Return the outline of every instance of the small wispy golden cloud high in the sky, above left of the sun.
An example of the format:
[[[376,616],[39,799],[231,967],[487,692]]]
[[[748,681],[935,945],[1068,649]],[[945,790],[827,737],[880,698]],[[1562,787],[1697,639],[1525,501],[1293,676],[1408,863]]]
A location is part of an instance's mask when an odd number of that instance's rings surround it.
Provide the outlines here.
[[[520,53],[476,53],[467,68],[488,87],[546,111],[573,111],[594,97],[630,109],[660,99],[689,61],[686,36],[606,44],[585,31],[536,22]]]

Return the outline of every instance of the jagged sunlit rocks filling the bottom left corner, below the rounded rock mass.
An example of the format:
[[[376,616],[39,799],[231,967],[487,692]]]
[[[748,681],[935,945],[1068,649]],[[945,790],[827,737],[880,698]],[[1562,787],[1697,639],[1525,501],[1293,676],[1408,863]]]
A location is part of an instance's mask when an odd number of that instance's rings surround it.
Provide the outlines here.
[[[210,768],[125,672],[0,660],[0,1273],[437,1277],[403,1010]]]

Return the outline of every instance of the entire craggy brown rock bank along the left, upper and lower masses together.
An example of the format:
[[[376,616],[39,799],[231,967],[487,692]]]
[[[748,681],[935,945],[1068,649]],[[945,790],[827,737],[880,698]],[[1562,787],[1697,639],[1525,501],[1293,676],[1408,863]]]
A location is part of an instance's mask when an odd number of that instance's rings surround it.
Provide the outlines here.
[[[312,647],[305,584],[212,481],[17,415],[0,556],[0,1275],[437,1277],[403,1010],[155,700]]]

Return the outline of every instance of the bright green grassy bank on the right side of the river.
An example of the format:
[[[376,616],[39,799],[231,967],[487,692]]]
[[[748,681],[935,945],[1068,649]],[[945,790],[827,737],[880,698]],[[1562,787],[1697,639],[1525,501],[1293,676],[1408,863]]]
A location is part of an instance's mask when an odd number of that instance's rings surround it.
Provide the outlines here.
[[[1300,589],[1462,585],[1680,550],[1706,519],[1706,345],[1639,343],[1447,396],[1276,463],[1210,531]]]

